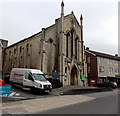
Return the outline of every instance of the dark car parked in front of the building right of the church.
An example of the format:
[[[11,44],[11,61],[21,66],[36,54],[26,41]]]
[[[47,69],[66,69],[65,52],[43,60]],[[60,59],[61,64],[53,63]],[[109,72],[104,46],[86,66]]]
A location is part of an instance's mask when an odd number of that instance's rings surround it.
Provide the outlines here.
[[[115,82],[100,82],[96,84],[97,87],[111,87],[111,88],[117,88],[117,83]]]

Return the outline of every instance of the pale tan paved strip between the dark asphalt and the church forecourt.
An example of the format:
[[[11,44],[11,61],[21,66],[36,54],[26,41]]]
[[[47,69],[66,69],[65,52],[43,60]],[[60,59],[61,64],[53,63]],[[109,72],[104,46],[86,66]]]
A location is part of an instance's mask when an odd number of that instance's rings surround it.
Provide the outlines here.
[[[2,104],[2,110],[8,114],[34,114],[54,108],[81,103],[95,98],[84,95],[65,95],[48,98],[37,98]]]

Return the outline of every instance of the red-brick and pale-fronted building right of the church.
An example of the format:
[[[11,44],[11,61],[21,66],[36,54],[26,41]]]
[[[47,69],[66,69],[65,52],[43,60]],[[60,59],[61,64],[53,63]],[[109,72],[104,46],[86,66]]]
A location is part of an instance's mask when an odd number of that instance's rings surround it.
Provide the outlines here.
[[[120,84],[120,57],[117,54],[113,56],[86,48],[86,62],[89,85],[93,80],[96,82],[98,79],[105,81],[106,77],[109,81]]]

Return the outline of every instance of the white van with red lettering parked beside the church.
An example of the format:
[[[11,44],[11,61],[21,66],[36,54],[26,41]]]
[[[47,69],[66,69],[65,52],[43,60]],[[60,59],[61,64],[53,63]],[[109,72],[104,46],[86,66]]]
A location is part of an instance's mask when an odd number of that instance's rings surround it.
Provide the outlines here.
[[[39,89],[44,92],[51,92],[52,85],[45,78],[43,72],[36,69],[13,68],[10,74],[10,83],[20,85],[30,90]]]

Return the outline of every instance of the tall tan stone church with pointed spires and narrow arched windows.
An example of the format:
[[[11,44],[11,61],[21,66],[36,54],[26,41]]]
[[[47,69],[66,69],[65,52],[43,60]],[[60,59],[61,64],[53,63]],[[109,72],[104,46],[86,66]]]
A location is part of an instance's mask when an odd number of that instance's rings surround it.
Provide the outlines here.
[[[81,75],[86,74],[83,42],[83,18],[80,23],[73,12],[61,17],[55,24],[5,49],[4,74],[13,67],[40,69],[51,77],[53,73],[63,85],[83,85]]]

